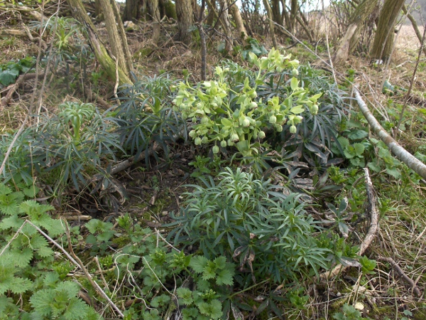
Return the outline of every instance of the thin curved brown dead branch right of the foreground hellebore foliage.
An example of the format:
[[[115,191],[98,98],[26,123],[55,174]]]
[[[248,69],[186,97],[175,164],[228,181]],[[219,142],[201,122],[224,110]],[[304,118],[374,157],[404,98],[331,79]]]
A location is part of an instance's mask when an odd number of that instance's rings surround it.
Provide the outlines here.
[[[378,211],[376,208],[376,197],[373,194],[373,183],[371,183],[370,174],[368,173],[368,169],[364,168],[364,172],[366,174],[366,193],[368,198],[368,207],[367,207],[367,213],[370,214],[370,228],[368,229],[368,233],[366,235],[366,238],[364,238],[363,242],[361,243],[361,246],[359,247],[358,255],[363,255],[364,252],[366,252],[369,245],[371,245],[371,242],[373,241],[374,237],[376,237],[376,233],[378,230]],[[339,264],[335,266],[332,270],[329,272],[324,272],[320,274],[320,281],[326,280],[326,279],[332,279],[337,276],[340,272],[344,272],[348,267],[351,267],[351,265],[342,265]]]

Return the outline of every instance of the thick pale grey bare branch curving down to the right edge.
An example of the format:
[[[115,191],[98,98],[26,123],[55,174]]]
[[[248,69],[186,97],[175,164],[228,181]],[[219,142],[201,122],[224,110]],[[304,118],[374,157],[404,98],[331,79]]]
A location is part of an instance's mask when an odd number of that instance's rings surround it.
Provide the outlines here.
[[[378,137],[388,146],[388,148],[392,151],[392,153],[403,161],[404,164],[408,166],[408,168],[415,171],[416,174],[426,179],[426,165],[422,163],[422,161],[418,160],[410,154],[407,150],[405,150],[398,142],[393,139],[388,132],[378,123],[373,114],[368,110],[366,103],[362,100],[361,95],[356,87],[354,87],[355,99],[358,103],[359,110],[361,110],[364,117],[367,119],[368,124],[370,124],[371,129],[375,132]]]

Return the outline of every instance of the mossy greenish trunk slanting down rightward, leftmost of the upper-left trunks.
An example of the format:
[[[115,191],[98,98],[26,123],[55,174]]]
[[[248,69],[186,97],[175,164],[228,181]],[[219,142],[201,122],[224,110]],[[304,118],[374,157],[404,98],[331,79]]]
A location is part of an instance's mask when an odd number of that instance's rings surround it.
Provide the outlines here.
[[[109,78],[116,79],[116,73],[118,73],[119,85],[132,85],[133,82],[130,80],[126,72],[120,68],[120,66],[118,70],[116,69],[116,63],[109,55],[107,48],[105,48],[104,44],[99,40],[93,23],[89,16],[87,16],[87,12],[84,9],[82,0],[67,0],[67,4],[71,8],[72,16],[82,24],[84,30],[87,32],[89,46],[92,48],[94,55],[102,65],[102,68],[107,73]]]

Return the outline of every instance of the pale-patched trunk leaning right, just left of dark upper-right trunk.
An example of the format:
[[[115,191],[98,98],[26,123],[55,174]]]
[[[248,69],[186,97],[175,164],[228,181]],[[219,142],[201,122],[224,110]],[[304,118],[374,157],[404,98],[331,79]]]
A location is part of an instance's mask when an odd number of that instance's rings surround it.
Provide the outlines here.
[[[374,8],[376,8],[377,2],[378,0],[363,0],[361,4],[356,7],[354,14],[352,14],[350,18],[346,33],[332,57],[334,65],[344,63],[349,53],[356,48],[356,43],[358,43],[359,34],[364,26],[364,22],[373,12]]]

